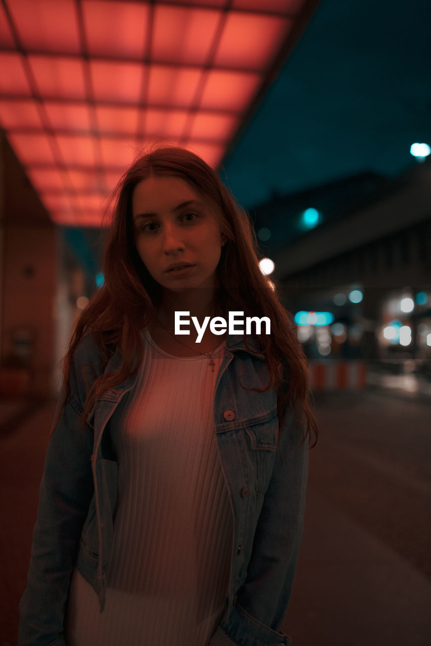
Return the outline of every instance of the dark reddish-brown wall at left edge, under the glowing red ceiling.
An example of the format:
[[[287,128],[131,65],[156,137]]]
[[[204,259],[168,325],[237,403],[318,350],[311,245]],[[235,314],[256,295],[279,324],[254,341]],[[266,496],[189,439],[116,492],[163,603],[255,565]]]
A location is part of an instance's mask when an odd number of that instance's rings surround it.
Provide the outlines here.
[[[56,225],[0,133],[0,395],[52,393]]]

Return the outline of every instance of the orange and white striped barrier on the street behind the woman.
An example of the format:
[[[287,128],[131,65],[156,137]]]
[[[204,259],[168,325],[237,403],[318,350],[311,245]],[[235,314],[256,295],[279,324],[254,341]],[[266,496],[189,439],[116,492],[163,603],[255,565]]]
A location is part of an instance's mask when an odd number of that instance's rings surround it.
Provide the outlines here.
[[[309,371],[313,390],[362,390],[367,382],[363,361],[311,361]]]

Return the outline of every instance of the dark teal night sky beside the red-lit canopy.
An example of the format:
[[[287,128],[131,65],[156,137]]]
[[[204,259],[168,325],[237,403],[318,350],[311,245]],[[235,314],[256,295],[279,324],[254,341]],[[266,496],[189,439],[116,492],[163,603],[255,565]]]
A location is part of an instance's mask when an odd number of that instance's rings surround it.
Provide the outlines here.
[[[430,0],[322,0],[224,160],[239,202],[415,165],[410,145],[431,145],[430,30]]]

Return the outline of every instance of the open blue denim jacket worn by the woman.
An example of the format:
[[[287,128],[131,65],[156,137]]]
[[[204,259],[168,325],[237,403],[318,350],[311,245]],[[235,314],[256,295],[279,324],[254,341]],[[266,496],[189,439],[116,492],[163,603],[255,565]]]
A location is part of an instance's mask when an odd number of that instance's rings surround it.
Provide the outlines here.
[[[302,537],[307,443],[287,409],[278,433],[277,394],[256,340],[227,335],[214,392],[214,433],[234,523],[224,614],[211,646],[282,646],[280,632]],[[116,351],[105,371],[122,359]],[[85,380],[102,374],[93,335],[82,339],[71,366],[71,394],[52,432],[39,490],[27,588],[19,604],[18,646],[65,646],[64,625],[74,567],[105,604],[113,545],[118,463],[104,433],[137,375],[111,388],[79,420]],[[58,408],[54,419],[58,414]],[[125,398],[127,399],[127,398]],[[151,645],[147,645],[151,646]]]

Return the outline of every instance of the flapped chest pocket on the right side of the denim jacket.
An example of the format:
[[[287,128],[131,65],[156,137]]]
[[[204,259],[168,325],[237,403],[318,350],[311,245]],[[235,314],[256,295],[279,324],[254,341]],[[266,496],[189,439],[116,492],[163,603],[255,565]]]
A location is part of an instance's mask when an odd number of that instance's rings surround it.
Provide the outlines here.
[[[277,415],[263,424],[246,426],[249,455],[256,477],[256,494],[265,495],[277,450]]]

